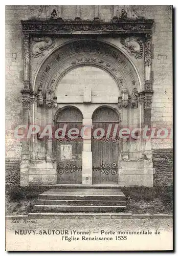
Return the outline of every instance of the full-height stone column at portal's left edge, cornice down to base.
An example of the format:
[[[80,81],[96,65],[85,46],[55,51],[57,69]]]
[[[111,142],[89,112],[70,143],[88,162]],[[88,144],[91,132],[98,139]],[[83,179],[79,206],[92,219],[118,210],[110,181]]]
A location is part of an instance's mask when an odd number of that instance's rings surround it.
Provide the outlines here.
[[[23,124],[29,127],[30,117],[30,40],[29,34],[23,35],[24,39],[24,89],[21,90],[23,104]],[[22,153],[20,163],[20,186],[29,185],[29,140],[27,137],[22,142]]]

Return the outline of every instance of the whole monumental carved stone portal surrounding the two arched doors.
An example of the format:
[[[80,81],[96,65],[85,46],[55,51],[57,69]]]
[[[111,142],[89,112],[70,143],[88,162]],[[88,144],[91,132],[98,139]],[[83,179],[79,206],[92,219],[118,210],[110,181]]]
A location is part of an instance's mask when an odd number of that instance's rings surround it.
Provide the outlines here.
[[[139,16],[131,6],[108,7],[105,18],[101,7],[90,7],[90,18],[82,18],[81,9],[76,6],[74,17],[65,18],[64,7],[41,6],[36,16],[21,18],[21,123],[52,125],[54,130],[66,125],[66,133],[92,129],[77,139],[41,139],[40,130],[19,142],[20,186],[153,186],[156,140],[145,140],[138,132],[135,139],[113,138],[113,133],[117,127],[149,129],[157,119],[155,104],[161,103],[155,103],[157,92],[154,99],[154,19]],[[94,139],[94,131],[103,130],[104,136]]]

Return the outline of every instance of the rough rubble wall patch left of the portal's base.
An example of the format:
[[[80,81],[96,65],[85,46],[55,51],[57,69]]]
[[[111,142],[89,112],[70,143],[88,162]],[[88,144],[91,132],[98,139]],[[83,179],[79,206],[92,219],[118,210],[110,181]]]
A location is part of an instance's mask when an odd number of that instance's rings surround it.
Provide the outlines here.
[[[6,158],[6,185],[20,185],[20,163],[18,159]]]

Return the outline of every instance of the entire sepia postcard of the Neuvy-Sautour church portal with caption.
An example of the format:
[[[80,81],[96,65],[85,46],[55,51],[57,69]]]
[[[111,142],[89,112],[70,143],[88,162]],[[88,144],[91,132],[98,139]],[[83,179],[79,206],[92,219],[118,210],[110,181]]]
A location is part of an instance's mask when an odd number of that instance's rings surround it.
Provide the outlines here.
[[[172,6],[6,6],[6,250],[173,249]]]

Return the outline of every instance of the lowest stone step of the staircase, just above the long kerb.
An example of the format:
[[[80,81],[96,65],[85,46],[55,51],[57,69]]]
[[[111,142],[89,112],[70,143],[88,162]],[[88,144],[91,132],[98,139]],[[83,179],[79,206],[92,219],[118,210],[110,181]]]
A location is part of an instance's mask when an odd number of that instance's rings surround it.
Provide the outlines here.
[[[35,211],[51,211],[51,212],[120,212],[126,206],[101,206],[101,205],[35,205]]]

